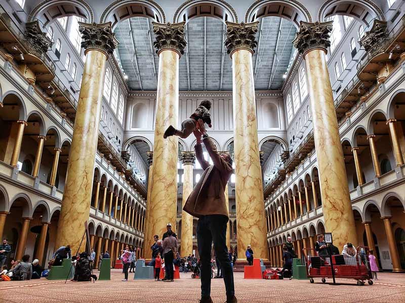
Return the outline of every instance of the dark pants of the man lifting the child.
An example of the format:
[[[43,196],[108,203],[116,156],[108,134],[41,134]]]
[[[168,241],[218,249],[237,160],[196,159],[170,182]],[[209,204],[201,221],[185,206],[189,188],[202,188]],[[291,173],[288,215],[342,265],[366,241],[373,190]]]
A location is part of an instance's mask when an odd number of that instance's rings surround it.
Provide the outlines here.
[[[224,215],[208,215],[198,219],[197,245],[201,263],[201,297],[211,295],[211,245],[213,242],[224,276],[226,295],[230,297],[235,294],[233,271],[226,247],[227,223],[228,217]]]

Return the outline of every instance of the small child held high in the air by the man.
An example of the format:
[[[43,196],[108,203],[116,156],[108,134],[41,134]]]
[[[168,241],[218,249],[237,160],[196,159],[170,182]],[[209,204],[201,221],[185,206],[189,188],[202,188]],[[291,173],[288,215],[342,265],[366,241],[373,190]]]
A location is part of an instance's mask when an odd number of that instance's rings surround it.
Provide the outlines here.
[[[209,100],[204,100],[200,103],[197,107],[195,112],[190,116],[190,118],[184,120],[181,123],[181,130],[174,128],[172,125],[168,127],[165,131],[163,137],[166,139],[170,136],[179,136],[180,138],[187,138],[195,129],[197,121],[199,119],[203,120],[204,123],[207,123],[209,127],[211,127],[211,102]]]

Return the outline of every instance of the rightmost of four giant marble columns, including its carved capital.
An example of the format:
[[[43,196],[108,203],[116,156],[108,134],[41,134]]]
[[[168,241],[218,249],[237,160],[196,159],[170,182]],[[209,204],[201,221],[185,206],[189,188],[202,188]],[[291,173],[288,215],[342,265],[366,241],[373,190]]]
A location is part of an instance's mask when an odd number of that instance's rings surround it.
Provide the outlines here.
[[[301,21],[293,43],[306,65],[325,229],[342,249],[347,242],[356,246],[357,236],[326,60],[332,23]]]

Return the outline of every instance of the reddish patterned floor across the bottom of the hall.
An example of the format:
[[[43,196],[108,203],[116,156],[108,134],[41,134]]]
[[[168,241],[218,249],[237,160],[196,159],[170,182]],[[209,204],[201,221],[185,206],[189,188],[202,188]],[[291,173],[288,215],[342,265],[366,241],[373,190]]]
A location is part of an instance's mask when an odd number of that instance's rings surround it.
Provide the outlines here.
[[[405,274],[379,273],[374,285],[357,286],[355,280],[338,279],[339,286],[308,280],[244,280],[234,273],[238,302],[405,302]],[[111,281],[70,282],[46,279],[0,282],[0,302],[86,303],[188,303],[198,302],[199,280],[181,274],[173,283],[153,280],[121,282],[120,270],[111,271]],[[327,281],[329,282],[329,281]],[[331,281],[332,282],[332,281]],[[214,302],[224,302],[222,279],[212,280]]]

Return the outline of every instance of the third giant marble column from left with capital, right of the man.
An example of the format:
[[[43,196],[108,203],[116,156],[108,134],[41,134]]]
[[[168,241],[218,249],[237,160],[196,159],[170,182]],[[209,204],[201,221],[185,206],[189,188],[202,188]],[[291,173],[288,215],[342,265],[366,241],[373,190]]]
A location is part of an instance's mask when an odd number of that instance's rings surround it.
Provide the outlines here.
[[[225,46],[232,59],[237,246],[241,249],[252,244],[255,258],[267,259],[252,63],[258,23],[226,22]]]

